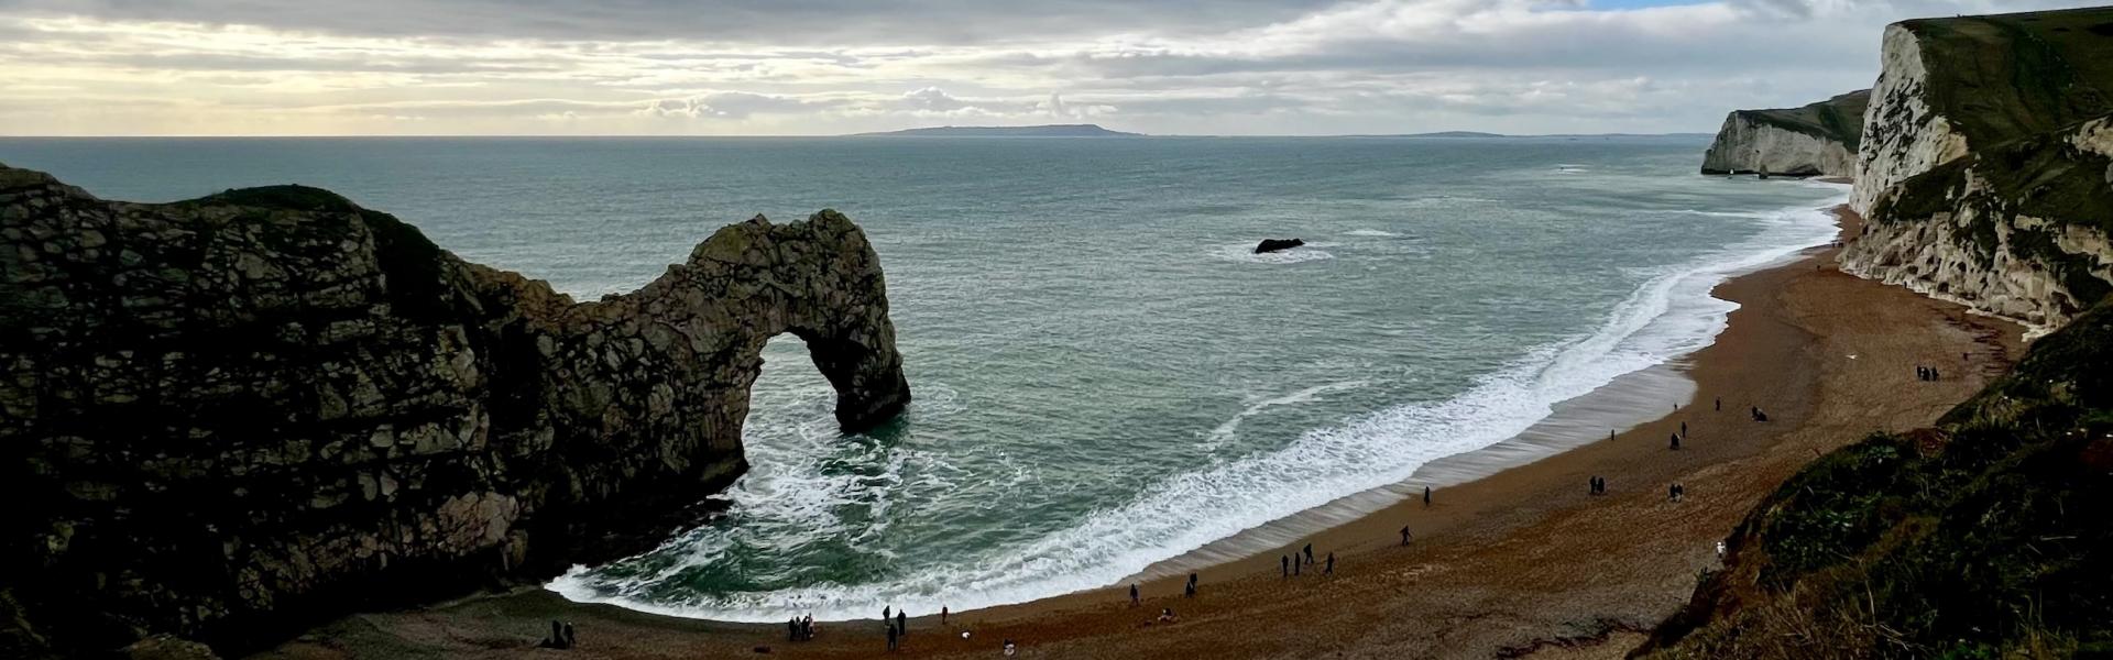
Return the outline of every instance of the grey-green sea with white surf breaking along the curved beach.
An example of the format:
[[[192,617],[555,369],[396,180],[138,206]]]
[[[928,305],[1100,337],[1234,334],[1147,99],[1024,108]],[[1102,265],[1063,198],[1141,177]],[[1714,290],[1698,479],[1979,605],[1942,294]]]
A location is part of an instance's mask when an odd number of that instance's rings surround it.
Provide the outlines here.
[[[1718,281],[1832,241],[1847,197],[1699,176],[1707,140],[0,138],[0,163],[125,201],[323,186],[581,300],[723,224],[847,214],[885,269],[904,419],[839,434],[833,389],[778,336],[725,514],[549,584],[784,622],[1270,550],[1285,520],[1443,484],[1428,465],[1676,366],[1735,309]]]

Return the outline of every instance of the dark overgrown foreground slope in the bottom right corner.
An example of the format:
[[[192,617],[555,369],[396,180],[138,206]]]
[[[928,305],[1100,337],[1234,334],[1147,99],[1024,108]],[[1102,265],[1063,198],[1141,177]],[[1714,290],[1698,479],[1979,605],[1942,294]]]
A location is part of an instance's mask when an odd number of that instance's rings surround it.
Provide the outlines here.
[[[1807,465],[1642,658],[2113,658],[2113,307]]]

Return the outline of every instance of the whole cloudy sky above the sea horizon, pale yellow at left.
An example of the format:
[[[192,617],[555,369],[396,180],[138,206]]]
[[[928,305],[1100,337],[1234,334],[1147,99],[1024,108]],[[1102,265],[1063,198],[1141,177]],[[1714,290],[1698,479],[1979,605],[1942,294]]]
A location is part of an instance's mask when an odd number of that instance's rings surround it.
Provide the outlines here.
[[[2090,4],[0,0],[0,135],[1707,133],[1885,23]]]

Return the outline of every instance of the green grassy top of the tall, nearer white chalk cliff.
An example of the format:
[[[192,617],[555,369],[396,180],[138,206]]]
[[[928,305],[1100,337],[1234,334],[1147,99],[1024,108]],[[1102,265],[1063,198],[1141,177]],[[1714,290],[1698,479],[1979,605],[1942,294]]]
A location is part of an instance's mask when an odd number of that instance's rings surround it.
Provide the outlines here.
[[[1904,21],[1929,97],[1967,144],[1999,144],[2113,112],[2113,6]]]

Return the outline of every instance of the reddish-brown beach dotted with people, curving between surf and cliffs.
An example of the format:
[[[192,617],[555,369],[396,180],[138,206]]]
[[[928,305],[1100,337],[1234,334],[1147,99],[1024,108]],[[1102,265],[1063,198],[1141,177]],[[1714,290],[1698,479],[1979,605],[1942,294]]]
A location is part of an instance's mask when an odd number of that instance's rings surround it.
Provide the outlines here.
[[[1843,222],[1853,237],[1857,218]],[[1714,544],[1783,478],[1870,432],[1933,423],[2022,353],[2022,328],[1838,273],[1834,250],[1737,277],[1716,296],[1741,309],[1712,347],[1673,366],[1693,381],[1678,412],[1673,400],[1661,402],[1671,415],[1441,487],[1428,508],[1420,497],[1369,503],[1369,514],[1299,531],[1257,556],[1198,558],[1215,565],[1200,569],[1196,599],[1181,597],[1181,578],[1160,578],[1141,584],[1143,607],[1116,586],[955,613],[945,626],[919,611],[900,656],[997,656],[1012,639],[1021,658],[1619,658],[1686,603],[1695,575],[1716,567]],[[1944,381],[1916,381],[1916,364],[1938,366]],[[1771,421],[1752,421],[1750,406]],[[1688,436],[1669,451],[1680,423]],[[1591,476],[1608,480],[1608,495],[1587,495]],[[1684,501],[1667,499],[1673,482],[1686,487]],[[1407,548],[1403,525],[1416,535]],[[1304,544],[1319,556],[1335,552],[1335,573],[1280,578],[1278,558]],[[1171,569],[1179,567],[1147,573]],[[1156,622],[1162,607],[1179,620]],[[581,647],[535,647],[554,618],[579,628]],[[841,622],[820,624],[816,641],[786,643],[782,624],[676,620],[524,590],[351,616],[258,658],[752,658],[759,649],[871,658],[885,654],[885,635],[873,620]]]

